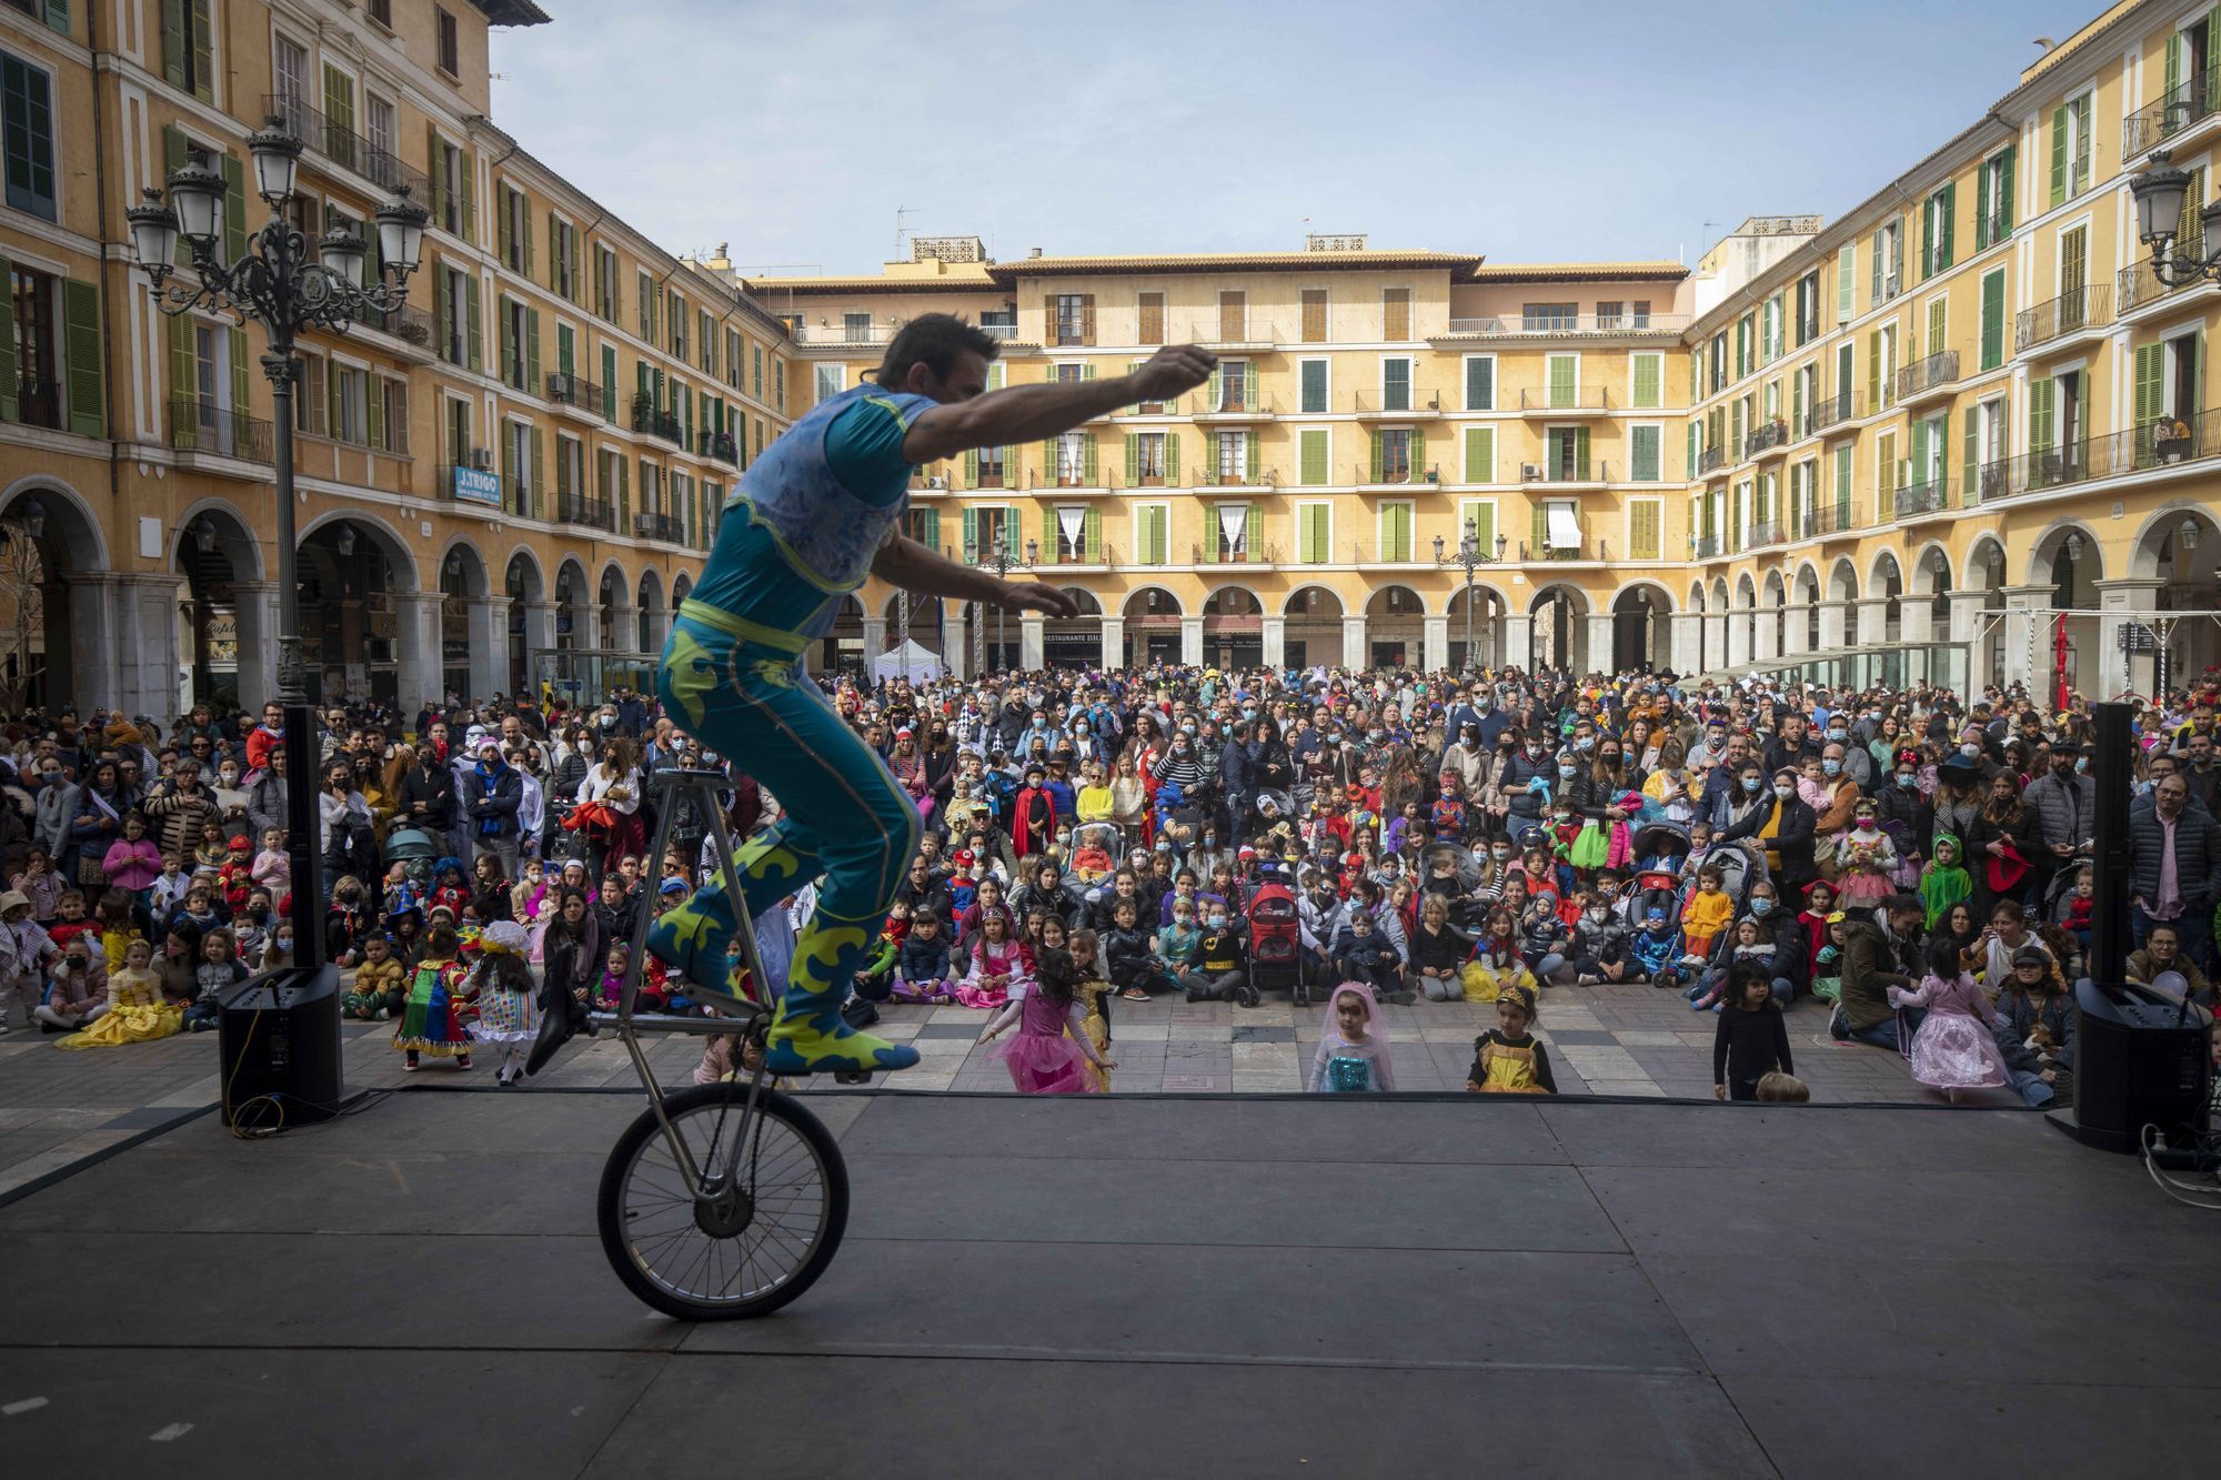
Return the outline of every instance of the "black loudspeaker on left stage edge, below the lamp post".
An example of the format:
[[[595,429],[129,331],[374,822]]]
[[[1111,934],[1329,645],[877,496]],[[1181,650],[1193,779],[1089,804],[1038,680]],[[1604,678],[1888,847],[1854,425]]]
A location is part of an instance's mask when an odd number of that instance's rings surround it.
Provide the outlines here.
[[[224,1120],[269,1131],[340,1113],[340,969],[289,967],[240,982],[215,1027]]]

